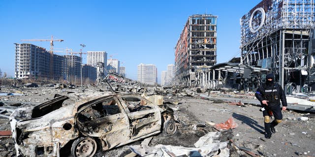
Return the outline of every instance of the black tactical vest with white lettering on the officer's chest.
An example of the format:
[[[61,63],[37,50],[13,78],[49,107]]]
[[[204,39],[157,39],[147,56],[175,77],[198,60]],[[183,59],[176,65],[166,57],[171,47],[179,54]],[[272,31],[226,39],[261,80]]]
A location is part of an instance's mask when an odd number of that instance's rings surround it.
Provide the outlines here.
[[[279,85],[278,83],[273,83],[272,86],[267,86],[266,83],[262,84],[263,91],[264,91],[264,98],[265,100],[269,101],[268,105],[279,105],[280,98],[279,98]]]

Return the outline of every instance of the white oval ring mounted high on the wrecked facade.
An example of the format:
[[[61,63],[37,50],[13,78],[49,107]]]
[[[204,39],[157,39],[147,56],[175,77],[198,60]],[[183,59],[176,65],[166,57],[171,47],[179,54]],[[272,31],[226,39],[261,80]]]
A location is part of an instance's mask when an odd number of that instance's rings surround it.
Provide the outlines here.
[[[263,8],[257,8],[252,12],[250,19],[251,32],[258,31],[265,22],[265,11]]]

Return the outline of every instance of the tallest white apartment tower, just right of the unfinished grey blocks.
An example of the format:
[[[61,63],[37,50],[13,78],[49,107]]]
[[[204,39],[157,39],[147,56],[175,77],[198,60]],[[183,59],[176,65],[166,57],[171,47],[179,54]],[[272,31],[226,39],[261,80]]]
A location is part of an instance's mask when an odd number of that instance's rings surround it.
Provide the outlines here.
[[[98,69],[102,71],[97,71],[97,80],[100,79],[99,77],[106,76],[106,65],[107,65],[107,53],[105,51],[88,51],[87,52],[87,64],[91,65],[95,68],[99,66],[99,63],[103,63],[104,67],[98,67]]]

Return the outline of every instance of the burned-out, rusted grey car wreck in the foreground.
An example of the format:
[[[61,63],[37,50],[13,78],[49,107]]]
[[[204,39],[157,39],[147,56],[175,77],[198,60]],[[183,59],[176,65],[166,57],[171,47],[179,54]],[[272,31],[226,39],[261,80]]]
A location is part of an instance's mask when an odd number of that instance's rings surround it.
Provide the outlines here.
[[[142,96],[69,93],[10,115],[17,156],[92,157],[164,131],[176,132],[174,111]]]

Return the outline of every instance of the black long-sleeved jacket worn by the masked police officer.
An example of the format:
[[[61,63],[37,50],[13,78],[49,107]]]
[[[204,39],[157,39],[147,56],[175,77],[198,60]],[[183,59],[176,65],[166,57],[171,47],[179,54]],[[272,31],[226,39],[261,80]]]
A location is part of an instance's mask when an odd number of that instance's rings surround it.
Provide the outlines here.
[[[268,105],[275,106],[280,105],[281,100],[282,105],[287,106],[284,90],[278,83],[273,82],[269,85],[266,83],[260,84],[255,93],[255,96],[260,101],[260,103],[263,100],[267,100],[269,101]]]

